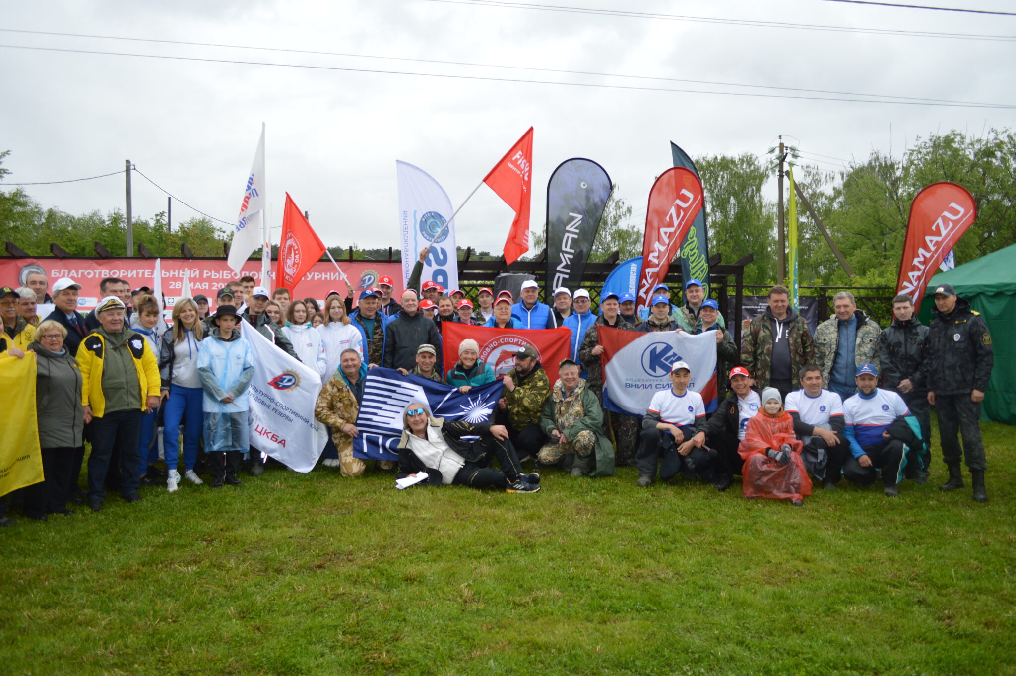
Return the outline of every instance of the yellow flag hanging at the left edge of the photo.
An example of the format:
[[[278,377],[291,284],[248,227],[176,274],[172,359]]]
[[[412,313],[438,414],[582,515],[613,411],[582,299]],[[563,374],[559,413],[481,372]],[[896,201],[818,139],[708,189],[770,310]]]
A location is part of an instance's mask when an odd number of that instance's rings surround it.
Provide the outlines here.
[[[4,412],[7,422],[0,435],[0,496],[3,496],[43,481],[36,418],[36,353],[24,353],[24,359],[0,354],[0,392],[8,394]]]

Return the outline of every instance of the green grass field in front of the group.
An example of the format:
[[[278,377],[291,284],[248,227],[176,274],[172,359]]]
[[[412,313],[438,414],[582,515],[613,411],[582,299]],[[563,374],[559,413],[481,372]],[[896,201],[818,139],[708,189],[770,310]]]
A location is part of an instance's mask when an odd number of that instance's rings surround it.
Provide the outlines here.
[[[1013,428],[967,488],[269,470],[0,530],[3,674],[1016,673]],[[937,438],[937,435],[936,435]],[[16,515],[16,514],[15,514]]]

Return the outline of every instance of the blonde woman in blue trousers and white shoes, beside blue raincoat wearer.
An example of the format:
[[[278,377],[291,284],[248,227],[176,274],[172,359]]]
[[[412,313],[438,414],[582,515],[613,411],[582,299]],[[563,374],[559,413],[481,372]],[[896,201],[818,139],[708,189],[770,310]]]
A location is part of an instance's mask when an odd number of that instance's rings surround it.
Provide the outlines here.
[[[163,435],[166,467],[169,470],[166,489],[170,492],[177,490],[180,483],[177,465],[181,420],[184,422],[184,478],[194,485],[204,483],[194,472],[204,420],[204,388],[197,372],[197,356],[202,339],[204,324],[197,304],[189,298],[179,299],[173,308],[173,330],[163,334],[158,350],[158,372],[163,379],[163,401],[166,402],[163,418],[168,432]]]

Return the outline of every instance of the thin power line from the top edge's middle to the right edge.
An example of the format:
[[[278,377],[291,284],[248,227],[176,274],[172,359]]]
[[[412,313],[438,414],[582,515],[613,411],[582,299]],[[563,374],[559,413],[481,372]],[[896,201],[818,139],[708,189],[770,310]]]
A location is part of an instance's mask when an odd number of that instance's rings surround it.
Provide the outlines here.
[[[502,9],[531,9],[537,11],[567,12],[570,14],[592,14],[598,16],[621,16],[627,18],[663,19],[669,21],[693,21],[697,23],[719,23],[723,25],[747,25],[768,28],[792,28],[799,30],[825,30],[833,33],[862,33],[869,35],[906,36],[914,38],[947,38],[953,40],[989,40],[1012,42],[1016,36],[991,36],[963,33],[939,33],[932,30],[902,30],[898,28],[856,28],[845,25],[824,25],[820,23],[790,23],[786,21],[761,21],[756,19],[732,19],[715,16],[689,16],[683,14],[658,14],[618,9],[596,9],[590,7],[569,7],[565,5],[539,5],[533,3],[503,2],[501,0],[424,0],[453,5],[474,7],[498,7]]]

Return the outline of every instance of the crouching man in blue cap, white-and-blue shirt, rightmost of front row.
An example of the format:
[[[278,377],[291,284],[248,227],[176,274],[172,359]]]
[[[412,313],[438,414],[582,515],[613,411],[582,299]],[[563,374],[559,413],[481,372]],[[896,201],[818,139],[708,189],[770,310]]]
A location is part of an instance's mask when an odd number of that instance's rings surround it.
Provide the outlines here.
[[[871,486],[876,470],[881,470],[883,492],[896,497],[905,446],[920,444],[920,424],[899,394],[878,387],[879,370],[874,364],[862,364],[855,373],[858,393],[843,402],[843,434],[850,449],[843,476]]]

